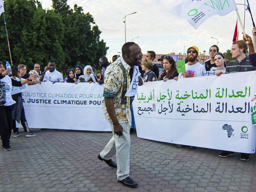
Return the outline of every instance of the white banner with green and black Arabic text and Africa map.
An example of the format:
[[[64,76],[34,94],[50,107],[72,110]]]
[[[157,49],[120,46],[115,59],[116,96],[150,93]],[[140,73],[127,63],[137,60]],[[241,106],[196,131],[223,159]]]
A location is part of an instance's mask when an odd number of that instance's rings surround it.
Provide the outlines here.
[[[255,77],[251,71],[145,83],[132,103],[137,136],[255,153]]]

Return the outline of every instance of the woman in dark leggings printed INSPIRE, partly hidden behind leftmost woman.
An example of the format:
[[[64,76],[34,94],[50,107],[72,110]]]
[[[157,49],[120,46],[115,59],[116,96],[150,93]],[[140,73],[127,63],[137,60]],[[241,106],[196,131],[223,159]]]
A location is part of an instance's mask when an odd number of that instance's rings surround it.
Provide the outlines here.
[[[20,71],[16,66],[12,66],[12,79],[16,81],[22,81],[23,78],[20,78]],[[14,88],[13,88],[14,90]],[[35,133],[32,133],[28,129],[28,123],[25,116],[25,110],[23,107],[22,96],[21,93],[16,93],[12,95],[12,99],[16,102],[15,108],[12,111],[12,131],[13,137],[17,137],[20,135],[19,128],[16,127],[16,122],[21,123],[24,132],[26,132],[25,137],[33,137],[36,136]]]

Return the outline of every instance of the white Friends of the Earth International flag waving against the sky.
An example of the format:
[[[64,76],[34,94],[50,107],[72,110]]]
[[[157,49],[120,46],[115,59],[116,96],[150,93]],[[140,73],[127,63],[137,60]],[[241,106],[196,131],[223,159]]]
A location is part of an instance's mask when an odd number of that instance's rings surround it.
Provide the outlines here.
[[[170,13],[187,20],[196,29],[213,15],[224,16],[236,9],[235,0],[186,0],[173,7]]]

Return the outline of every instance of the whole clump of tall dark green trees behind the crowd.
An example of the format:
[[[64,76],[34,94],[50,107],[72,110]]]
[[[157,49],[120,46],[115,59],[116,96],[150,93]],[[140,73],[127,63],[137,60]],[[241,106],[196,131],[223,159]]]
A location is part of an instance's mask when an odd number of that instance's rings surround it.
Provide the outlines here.
[[[33,69],[34,63],[45,66],[53,59],[64,74],[77,64],[99,68],[108,47],[92,15],[76,4],[70,9],[67,0],[52,0],[52,7],[46,11],[38,0],[4,1],[13,64]],[[0,22],[1,59],[10,60],[3,16]]]

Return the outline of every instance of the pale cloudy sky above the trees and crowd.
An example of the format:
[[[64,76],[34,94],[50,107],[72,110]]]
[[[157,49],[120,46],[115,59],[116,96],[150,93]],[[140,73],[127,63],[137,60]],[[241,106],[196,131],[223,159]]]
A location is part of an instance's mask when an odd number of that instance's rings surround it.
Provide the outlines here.
[[[102,31],[100,39],[109,47],[107,57],[119,54],[125,43],[124,14],[136,12],[126,17],[126,42],[137,43],[143,54],[155,51],[156,54],[187,52],[189,46],[196,45],[199,52],[209,53],[209,48],[217,44],[220,52],[231,49],[237,20],[236,11],[220,17],[215,15],[206,20],[197,29],[186,20],[176,18],[170,10],[185,0],[68,0],[67,4],[82,6],[84,13],[90,12],[96,25]],[[202,0],[201,0],[202,1]],[[206,1],[206,0],[204,0]],[[210,0],[207,0],[210,1]],[[220,1],[220,0],[214,0]],[[224,0],[221,0],[223,2]],[[228,0],[231,1],[231,0]],[[52,8],[52,0],[40,0],[44,9]],[[247,0],[236,0],[238,12],[244,24],[245,32],[252,36],[252,19],[249,11],[244,11]],[[256,22],[256,1],[249,0],[252,16]],[[245,12],[245,17],[244,17]],[[244,22],[245,18],[245,22]],[[243,39],[242,29],[238,25],[239,40]],[[137,37],[137,38],[136,38]],[[214,37],[214,38],[211,38]]]

